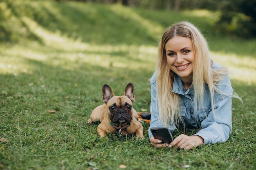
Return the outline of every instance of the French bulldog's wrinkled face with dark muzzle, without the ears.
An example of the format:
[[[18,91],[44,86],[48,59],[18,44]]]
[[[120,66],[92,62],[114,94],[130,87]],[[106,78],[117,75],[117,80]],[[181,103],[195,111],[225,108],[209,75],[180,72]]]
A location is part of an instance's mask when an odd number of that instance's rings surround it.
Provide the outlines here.
[[[124,126],[132,121],[132,102],[126,96],[112,97],[107,103],[108,116],[115,126]]]

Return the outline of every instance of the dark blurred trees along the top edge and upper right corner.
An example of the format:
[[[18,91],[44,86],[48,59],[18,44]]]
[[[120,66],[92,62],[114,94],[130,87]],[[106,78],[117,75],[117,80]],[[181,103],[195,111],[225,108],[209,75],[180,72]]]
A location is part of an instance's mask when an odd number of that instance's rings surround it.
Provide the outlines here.
[[[63,0],[57,0],[63,1]],[[67,0],[66,0],[67,1]],[[217,11],[215,32],[241,38],[256,37],[256,0],[77,0],[83,2],[121,3],[126,6],[163,10],[207,9]]]

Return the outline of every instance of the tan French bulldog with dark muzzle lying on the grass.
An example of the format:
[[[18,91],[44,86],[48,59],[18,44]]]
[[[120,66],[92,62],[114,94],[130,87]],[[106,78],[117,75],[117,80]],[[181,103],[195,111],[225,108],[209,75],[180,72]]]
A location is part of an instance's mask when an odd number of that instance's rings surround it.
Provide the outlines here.
[[[132,103],[135,100],[134,86],[129,83],[124,91],[124,95],[115,96],[110,86],[102,86],[103,103],[92,110],[88,123],[100,121],[97,128],[98,135],[102,138],[107,133],[117,133],[117,135],[136,134],[136,139],[144,139],[143,126],[138,121],[139,117]]]

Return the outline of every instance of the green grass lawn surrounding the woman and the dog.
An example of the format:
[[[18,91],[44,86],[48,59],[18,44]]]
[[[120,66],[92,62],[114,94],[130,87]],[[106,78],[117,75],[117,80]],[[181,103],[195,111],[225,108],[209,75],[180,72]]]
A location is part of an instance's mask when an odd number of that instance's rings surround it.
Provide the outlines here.
[[[18,42],[0,42],[1,170],[256,168],[256,40],[216,35],[216,14],[53,1],[16,0],[7,7]],[[229,140],[189,151],[157,149],[146,122],[145,140],[99,138],[97,124],[86,122],[102,104],[102,85],[120,95],[132,82],[134,108],[149,111],[159,36],[178,20],[205,30],[213,60],[229,68],[243,98],[244,106],[233,99]]]

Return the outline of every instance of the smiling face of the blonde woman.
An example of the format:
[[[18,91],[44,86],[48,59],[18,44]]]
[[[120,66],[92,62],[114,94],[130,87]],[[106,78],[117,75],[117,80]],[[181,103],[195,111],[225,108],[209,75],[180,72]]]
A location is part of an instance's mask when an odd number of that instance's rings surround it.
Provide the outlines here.
[[[171,70],[183,82],[192,81],[195,54],[190,38],[175,36],[165,44],[166,58]]]

